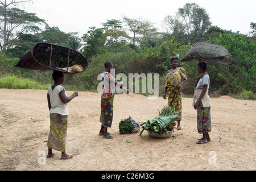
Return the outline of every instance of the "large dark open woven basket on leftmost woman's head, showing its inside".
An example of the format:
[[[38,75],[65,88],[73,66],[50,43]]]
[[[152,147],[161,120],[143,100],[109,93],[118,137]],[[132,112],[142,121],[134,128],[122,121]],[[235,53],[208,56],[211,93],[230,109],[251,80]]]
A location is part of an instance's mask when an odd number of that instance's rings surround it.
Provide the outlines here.
[[[84,55],[74,49],[49,43],[37,43],[15,67],[39,71],[60,71],[69,75],[81,73],[68,69],[74,65],[80,65],[81,72],[84,72],[89,62]]]

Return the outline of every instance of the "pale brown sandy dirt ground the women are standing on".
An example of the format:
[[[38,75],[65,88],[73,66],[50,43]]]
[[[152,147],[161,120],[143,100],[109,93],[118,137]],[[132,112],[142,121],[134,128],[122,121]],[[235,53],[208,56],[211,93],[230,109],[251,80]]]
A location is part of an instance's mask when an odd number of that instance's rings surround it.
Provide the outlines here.
[[[67,92],[71,95],[73,92]],[[155,118],[166,100],[148,100],[138,94],[114,99],[109,131],[114,139],[98,135],[100,94],[80,92],[69,103],[67,153],[46,159],[49,111],[46,90],[0,89],[0,170],[255,170],[256,101],[222,96],[212,98],[212,142],[196,144],[196,111],[192,98],[183,98],[182,130],[167,139],[148,137],[146,131],[121,135],[118,123],[131,116],[142,123]]]

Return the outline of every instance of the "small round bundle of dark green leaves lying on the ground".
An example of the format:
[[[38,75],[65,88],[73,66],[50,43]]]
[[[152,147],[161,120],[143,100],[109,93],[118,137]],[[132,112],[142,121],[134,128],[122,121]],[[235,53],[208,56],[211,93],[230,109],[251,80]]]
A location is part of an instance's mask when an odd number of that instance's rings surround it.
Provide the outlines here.
[[[121,134],[137,133],[139,130],[139,124],[135,122],[131,117],[122,119],[119,122],[119,132]]]

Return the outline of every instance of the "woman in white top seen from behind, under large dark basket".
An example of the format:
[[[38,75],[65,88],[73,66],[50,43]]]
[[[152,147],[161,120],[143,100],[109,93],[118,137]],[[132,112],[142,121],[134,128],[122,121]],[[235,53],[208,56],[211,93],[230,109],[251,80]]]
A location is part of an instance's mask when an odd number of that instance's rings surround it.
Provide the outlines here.
[[[61,84],[64,82],[64,75],[62,72],[54,71],[52,74],[54,84],[49,87],[47,93],[49,117],[50,117],[50,131],[48,135],[48,155],[51,158],[54,154],[52,149],[61,151],[61,160],[71,159],[72,155],[66,153],[66,138],[68,129],[68,102],[78,96],[75,92],[68,97],[65,89]]]

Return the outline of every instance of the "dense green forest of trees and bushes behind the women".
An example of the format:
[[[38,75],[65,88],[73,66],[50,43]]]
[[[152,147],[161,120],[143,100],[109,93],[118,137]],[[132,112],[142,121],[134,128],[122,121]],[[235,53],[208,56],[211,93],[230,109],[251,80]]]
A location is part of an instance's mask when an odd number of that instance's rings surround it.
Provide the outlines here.
[[[250,24],[249,35],[223,30],[212,26],[207,10],[196,3],[187,3],[177,10],[175,16],[164,18],[165,32],[158,32],[149,20],[123,16],[121,20],[102,22],[102,27],[89,27],[89,31],[79,37],[78,32],[63,32],[58,27],[50,27],[36,14],[0,2],[0,88],[47,89],[52,83],[51,72],[14,67],[35,43],[47,42],[76,49],[89,60],[85,72],[65,76],[67,90],[96,92],[97,76],[104,70],[104,63],[111,61],[115,74],[159,73],[159,94],[162,94],[164,77],[171,68],[170,53],[177,52],[182,59],[193,43],[208,40],[228,49],[235,61],[229,66],[208,65],[210,92],[256,99],[254,22]],[[39,28],[42,25],[44,30]],[[185,68],[189,79],[183,93],[192,95],[193,83],[198,76],[197,64],[180,62],[179,66]]]

